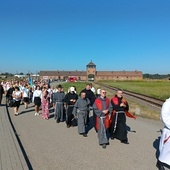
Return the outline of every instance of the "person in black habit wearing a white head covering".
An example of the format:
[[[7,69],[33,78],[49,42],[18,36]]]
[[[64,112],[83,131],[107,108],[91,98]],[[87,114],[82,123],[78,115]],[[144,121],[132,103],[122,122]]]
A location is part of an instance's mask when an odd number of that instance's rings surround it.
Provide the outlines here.
[[[73,107],[78,99],[78,95],[75,93],[75,88],[70,87],[69,92],[65,96],[65,103],[66,103],[66,124],[67,128],[72,126],[71,120],[73,118]]]

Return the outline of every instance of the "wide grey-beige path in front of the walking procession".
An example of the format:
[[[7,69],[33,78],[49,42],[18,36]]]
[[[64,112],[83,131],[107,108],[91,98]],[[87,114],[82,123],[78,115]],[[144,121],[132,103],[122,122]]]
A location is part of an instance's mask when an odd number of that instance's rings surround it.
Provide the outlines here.
[[[19,116],[11,119],[34,170],[155,170],[158,141],[163,128],[161,121],[138,117],[127,118],[129,145],[110,140],[102,149],[92,128],[88,137],[78,135],[77,127],[66,128],[53,118],[43,120],[34,116],[31,104],[27,110],[20,106]],[[53,113],[51,113],[51,116]],[[135,132],[134,132],[135,131]]]

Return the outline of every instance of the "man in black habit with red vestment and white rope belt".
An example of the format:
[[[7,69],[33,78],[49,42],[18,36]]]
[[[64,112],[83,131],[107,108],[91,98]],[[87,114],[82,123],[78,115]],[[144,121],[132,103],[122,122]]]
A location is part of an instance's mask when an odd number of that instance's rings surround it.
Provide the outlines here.
[[[116,95],[111,99],[109,111],[112,113],[110,118],[110,137],[118,139],[121,143],[129,144],[126,129],[126,112],[129,105],[123,97],[123,91],[117,90]]]

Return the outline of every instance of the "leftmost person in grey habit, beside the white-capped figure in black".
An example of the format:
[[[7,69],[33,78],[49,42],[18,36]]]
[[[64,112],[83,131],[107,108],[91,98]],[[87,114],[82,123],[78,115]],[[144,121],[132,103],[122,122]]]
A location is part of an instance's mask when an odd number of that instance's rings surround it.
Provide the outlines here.
[[[54,119],[57,123],[64,121],[64,98],[65,93],[62,91],[62,86],[57,86],[57,92],[53,95],[53,102],[55,103]]]

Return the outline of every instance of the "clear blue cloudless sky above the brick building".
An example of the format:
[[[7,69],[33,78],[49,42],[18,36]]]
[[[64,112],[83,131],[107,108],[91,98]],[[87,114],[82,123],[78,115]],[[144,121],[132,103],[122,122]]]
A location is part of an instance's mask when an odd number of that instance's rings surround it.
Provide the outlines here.
[[[0,0],[0,73],[170,73],[170,0]]]

